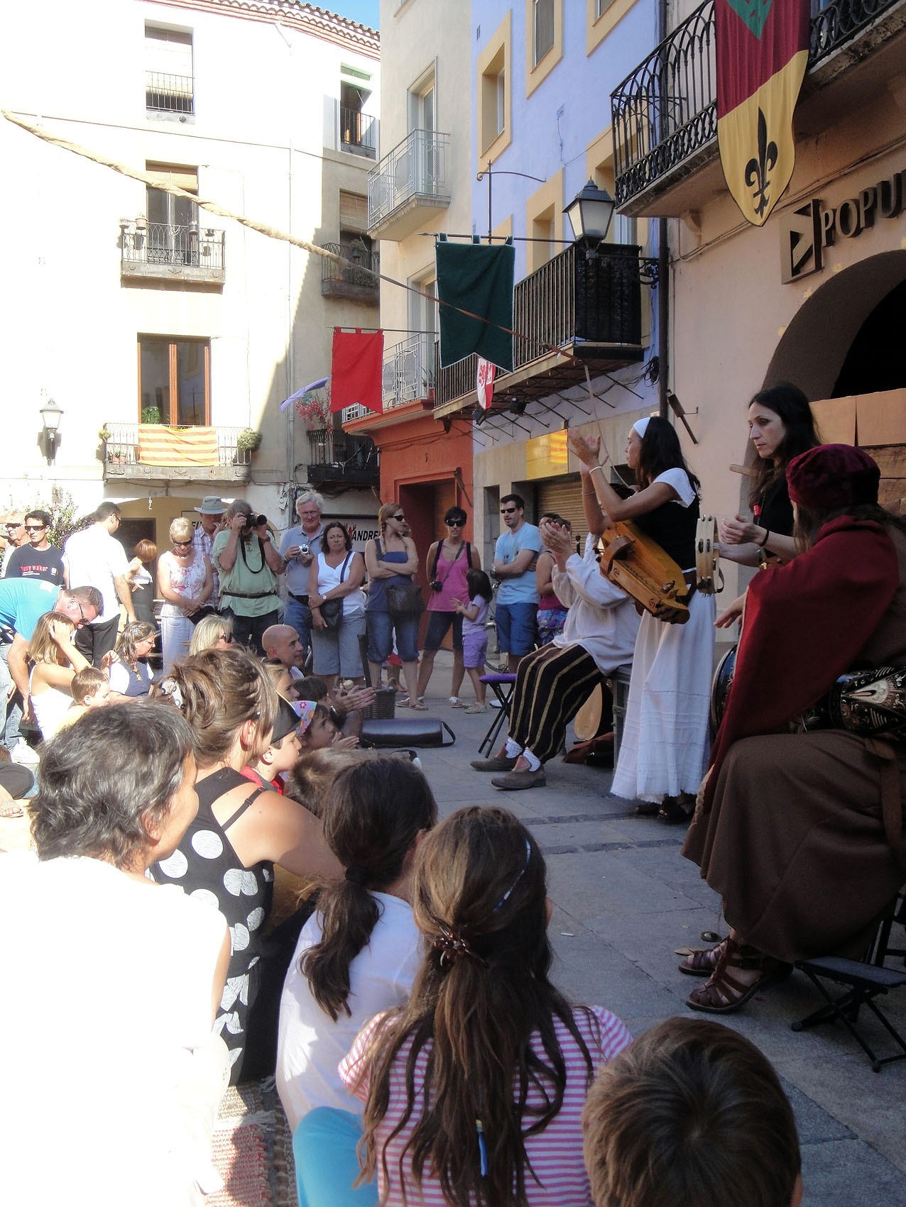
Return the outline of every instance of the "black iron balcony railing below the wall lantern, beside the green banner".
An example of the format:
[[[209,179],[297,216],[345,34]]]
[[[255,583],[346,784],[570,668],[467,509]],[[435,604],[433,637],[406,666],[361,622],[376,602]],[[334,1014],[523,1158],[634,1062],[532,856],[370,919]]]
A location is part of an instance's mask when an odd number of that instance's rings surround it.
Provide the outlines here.
[[[638,246],[570,244],[513,290],[513,331],[523,337],[513,339],[513,373],[567,345],[600,345],[602,360],[639,360],[640,286]],[[440,369],[435,406],[475,400],[476,369],[475,356]],[[507,375],[498,371],[496,380]]]

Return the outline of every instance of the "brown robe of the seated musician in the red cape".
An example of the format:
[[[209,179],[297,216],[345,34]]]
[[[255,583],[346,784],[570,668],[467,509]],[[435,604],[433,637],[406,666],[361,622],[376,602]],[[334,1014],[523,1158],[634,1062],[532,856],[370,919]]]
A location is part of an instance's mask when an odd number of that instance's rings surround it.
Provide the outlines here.
[[[890,529],[900,585],[858,664],[906,665],[906,536]],[[827,600],[834,608],[834,600]],[[883,754],[900,770],[895,824],[882,810]],[[890,794],[888,793],[888,801]],[[710,812],[696,814],[683,853],[724,897],[726,921],[779,960],[860,956],[906,881],[888,832],[902,830],[906,747],[844,730],[734,742]]]

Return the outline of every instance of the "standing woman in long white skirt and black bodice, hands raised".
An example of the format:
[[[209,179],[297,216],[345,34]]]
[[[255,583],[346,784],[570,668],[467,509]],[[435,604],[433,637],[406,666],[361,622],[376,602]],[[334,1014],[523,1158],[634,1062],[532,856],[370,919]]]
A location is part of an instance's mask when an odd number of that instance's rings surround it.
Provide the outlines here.
[[[695,590],[698,479],[666,419],[640,419],[629,432],[626,463],[638,490],[622,498],[599,463],[600,438],[569,436],[591,482],[603,531],[633,520],[686,573],[689,619],[669,624],[645,612],[639,625],[620,753],[611,792],[640,800],[639,814],[685,822],[708,762],[708,707],[714,649],[714,596]]]

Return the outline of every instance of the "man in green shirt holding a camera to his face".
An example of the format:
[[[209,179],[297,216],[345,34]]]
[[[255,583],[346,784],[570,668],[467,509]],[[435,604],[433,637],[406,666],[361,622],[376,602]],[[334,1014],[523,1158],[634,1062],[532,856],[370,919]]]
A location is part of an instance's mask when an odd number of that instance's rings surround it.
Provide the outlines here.
[[[220,575],[221,612],[233,619],[233,637],[263,657],[262,636],[277,624],[280,596],[277,576],[284,561],[271,540],[267,517],[252,514],[250,503],[234,498],[226,527],[214,538],[211,561]]]

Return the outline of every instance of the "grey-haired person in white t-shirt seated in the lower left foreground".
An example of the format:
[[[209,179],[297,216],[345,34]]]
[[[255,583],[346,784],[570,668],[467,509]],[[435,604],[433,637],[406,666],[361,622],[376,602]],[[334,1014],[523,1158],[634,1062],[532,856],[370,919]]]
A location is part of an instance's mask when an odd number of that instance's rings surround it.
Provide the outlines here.
[[[201,1203],[227,1080],[213,1021],[230,958],[226,921],[152,884],[194,816],[188,724],[149,702],[88,710],[43,748],[34,851],[0,855],[4,1057],[0,1185],[24,1202],[53,1127],[72,1201]],[[52,1071],[51,1083],[39,1074]],[[149,1160],[153,1137],[153,1160]]]

